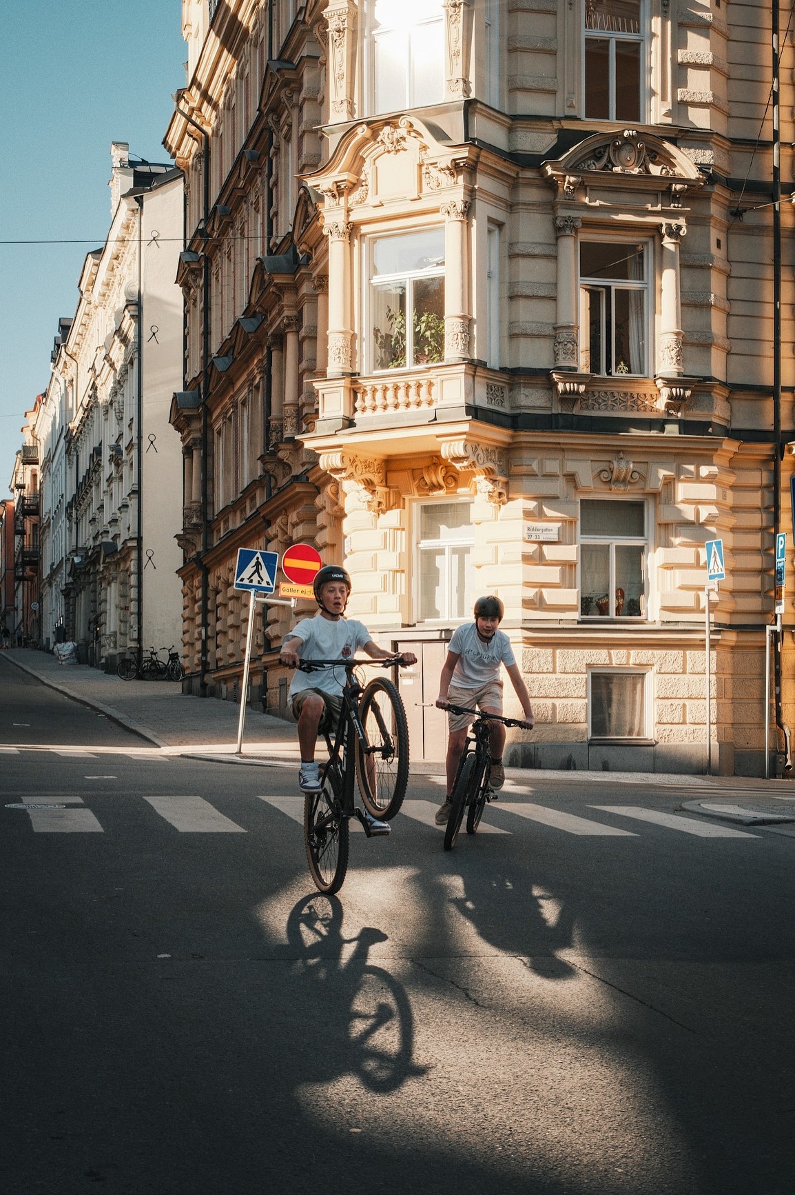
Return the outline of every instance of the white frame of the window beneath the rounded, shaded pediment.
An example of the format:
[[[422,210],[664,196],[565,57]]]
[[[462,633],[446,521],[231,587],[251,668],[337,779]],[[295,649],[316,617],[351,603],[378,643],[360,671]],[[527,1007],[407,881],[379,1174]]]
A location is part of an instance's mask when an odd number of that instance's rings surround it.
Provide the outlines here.
[[[635,281],[633,278],[597,278],[588,277],[581,272],[581,249],[583,245],[592,243],[600,245],[642,245],[643,253],[643,277]],[[577,246],[577,275],[578,275],[578,304],[579,304],[579,321],[580,321],[580,350],[579,350],[579,364],[584,373],[594,374],[598,378],[648,378],[649,375],[649,362],[654,360],[654,325],[655,325],[655,299],[657,288],[654,286],[654,240],[647,235],[616,235],[612,233],[599,233],[597,231],[583,233],[579,238]],[[611,315],[615,312],[615,292],[616,290],[635,290],[643,294],[643,368],[640,373],[616,369],[616,362],[612,361],[612,370],[606,373],[606,345],[605,345],[605,308],[602,311],[602,351],[604,354],[604,360],[594,362],[591,358],[590,342],[587,337],[588,331],[588,319],[586,314],[585,305],[585,293],[586,292],[610,292],[610,306]],[[605,304],[606,306],[606,304]],[[610,345],[611,358],[616,356],[616,338],[615,338],[615,317],[611,318],[612,341]],[[586,349],[587,344],[587,349]],[[588,360],[585,362],[585,354],[587,351]],[[587,368],[585,366],[587,364]],[[596,366],[599,368],[596,368]]]

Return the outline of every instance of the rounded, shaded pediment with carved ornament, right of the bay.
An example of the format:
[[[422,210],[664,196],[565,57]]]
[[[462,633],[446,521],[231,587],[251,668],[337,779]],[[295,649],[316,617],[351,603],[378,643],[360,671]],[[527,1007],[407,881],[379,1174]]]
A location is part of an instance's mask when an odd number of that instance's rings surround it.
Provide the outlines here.
[[[586,137],[562,158],[543,164],[544,173],[554,182],[562,200],[577,198],[583,186],[604,182],[636,184],[649,180],[671,188],[672,206],[682,202],[685,190],[703,185],[703,176],[677,146],[653,134],[624,129],[620,134],[599,133]],[[598,179],[594,176],[603,176]]]

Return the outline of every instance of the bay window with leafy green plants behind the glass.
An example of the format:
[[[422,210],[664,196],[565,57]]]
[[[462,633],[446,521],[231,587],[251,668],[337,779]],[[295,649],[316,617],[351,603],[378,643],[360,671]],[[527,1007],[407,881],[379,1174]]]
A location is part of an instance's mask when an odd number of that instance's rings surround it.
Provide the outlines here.
[[[444,228],[369,243],[370,369],[444,360]]]

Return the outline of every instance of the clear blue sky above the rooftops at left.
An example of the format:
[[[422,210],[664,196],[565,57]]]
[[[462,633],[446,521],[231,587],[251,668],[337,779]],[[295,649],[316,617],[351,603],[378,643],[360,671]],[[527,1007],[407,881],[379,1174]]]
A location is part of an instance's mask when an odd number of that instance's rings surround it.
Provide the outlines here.
[[[168,161],[185,84],[180,0],[6,0],[0,13],[0,498],[24,412],[50,376],[84,258],[110,227],[111,141]]]

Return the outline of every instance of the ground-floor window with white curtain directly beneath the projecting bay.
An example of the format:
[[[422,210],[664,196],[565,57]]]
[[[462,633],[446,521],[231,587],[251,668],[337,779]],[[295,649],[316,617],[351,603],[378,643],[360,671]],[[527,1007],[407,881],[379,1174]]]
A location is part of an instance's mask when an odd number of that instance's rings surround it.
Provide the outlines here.
[[[472,617],[474,541],[470,501],[430,502],[418,508],[418,623]]]

